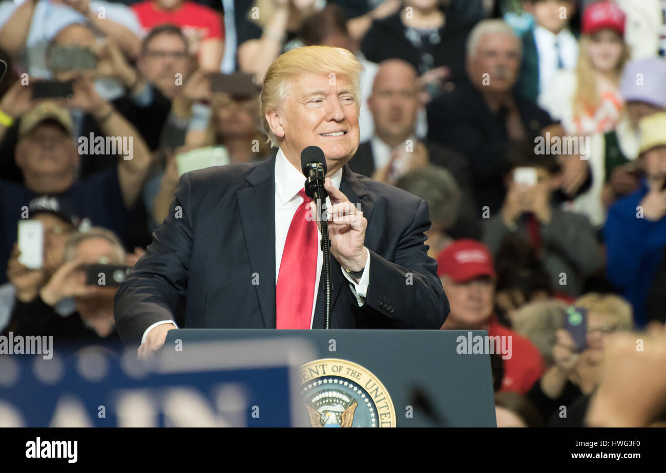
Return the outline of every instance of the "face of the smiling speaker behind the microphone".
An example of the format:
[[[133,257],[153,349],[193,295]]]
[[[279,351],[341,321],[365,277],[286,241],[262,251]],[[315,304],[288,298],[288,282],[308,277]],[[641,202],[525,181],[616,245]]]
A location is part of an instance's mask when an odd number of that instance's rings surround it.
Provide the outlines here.
[[[288,85],[288,92],[266,120],[280,148],[298,162],[300,153],[315,145],[324,151],[329,175],[351,159],[358,149],[358,103],[348,78],[307,72]]]

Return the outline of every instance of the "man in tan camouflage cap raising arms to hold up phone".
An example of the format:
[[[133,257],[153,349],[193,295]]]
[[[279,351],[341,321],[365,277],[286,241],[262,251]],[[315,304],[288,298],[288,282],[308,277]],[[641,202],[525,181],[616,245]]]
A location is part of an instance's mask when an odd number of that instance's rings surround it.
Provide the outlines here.
[[[16,241],[21,208],[41,195],[58,196],[79,217],[112,229],[126,242],[130,240],[133,228],[129,220],[150,164],[149,149],[135,128],[97,94],[92,80],[79,77],[73,89],[67,103],[94,116],[105,136],[132,138],[133,155],[78,180],[79,163],[93,159],[89,156],[82,159],[78,152],[81,143],[77,147],[72,138],[71,114],[49,100],[25,112],[18,126],[19,142],[14,153],[23,182],[0,179],[0,217],[3,228],[7,229],[0,235],[0,266],[7,264]],[[4,278],[0,282],[5,282]]]

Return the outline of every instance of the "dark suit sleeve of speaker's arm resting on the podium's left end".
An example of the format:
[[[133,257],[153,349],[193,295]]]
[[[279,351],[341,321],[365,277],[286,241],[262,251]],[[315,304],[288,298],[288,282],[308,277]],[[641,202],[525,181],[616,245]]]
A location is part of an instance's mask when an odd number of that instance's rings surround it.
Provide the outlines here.
[[[185,300],[192,250],[190,176],[180,178],[162,226],[115,295],[113,316],[123,343],[139,344],[156,322],[174,320]]]

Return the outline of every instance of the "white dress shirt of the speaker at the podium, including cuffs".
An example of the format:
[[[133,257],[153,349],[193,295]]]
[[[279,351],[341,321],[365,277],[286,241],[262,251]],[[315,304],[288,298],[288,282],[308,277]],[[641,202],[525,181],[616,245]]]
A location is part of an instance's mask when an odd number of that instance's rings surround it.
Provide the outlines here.
[[[342,181],[342,168],[338,169],[334,175],[330,176],[330,179],[336,189],[339,189],[340,182]],[[287,239],[287,233],[289,232],[291,221],[294,218],[296,210],[303,203],[303,199],[298,195],[298,191],[304,187],[304,184],[305,177],[302,172],[299,169],[296,169],[296,167],[286,159],[284,153],[282,153],[282,149],[278,149],[278,153],[275,157],[275,284],[278,282],[280,262],[282,262],[282,252],[284,251],[284,243]],[[330,209],[330,205],[330,199],[326,197],[326,208]],[[317,229],[317,235],[318,241],[320,241],[322,234],[319,229]],[[314,283],[314,298],[312,299],[310,328],[312,328],[312,321],[314,320],[314,309],[317,304],[317,288],[319,286],[322,265],[324,264],[324,254],[321,245],[318,244],[317,248],[317,277]],[[340,268],[344,277],[350,282],[350,288],[352,289],[354,296],[356,296],[356,301],[358,302],[359,307],[363,306],[365,303],[370,279],[370,251],[368,251],[367,248],[366,254],[368,255],[366,266],[363,268],[363,274],[358,281],[352,279],[344,268]],[[162,324],[173,324],[176,326],[175,322],[172,320],[155,322],[155,324],[151,325],[143,332],[141,343],[146,340],[149,331]]]

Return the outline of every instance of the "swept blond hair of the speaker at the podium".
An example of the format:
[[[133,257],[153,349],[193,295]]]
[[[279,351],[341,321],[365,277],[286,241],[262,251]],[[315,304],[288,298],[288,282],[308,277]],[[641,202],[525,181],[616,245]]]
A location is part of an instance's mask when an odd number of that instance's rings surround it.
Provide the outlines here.
[[[356,106],[360,107],[361,73],[364,67],[349,50],[330,46],[304,46],[281,54],[270,64],[261,88],[261,116],[268,140],[278,147],[278,139],[270,130],[266,113],[275,110],[286,98],[290,81],[301,74],[314,72],[335,76],[345,76],[352,84]]]

